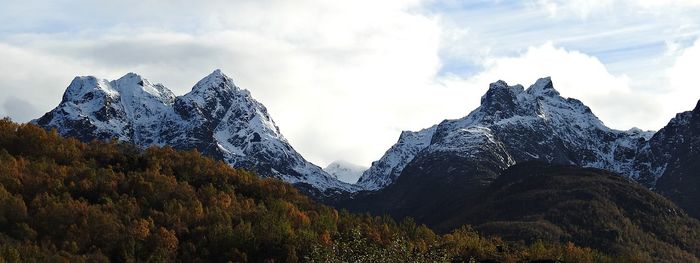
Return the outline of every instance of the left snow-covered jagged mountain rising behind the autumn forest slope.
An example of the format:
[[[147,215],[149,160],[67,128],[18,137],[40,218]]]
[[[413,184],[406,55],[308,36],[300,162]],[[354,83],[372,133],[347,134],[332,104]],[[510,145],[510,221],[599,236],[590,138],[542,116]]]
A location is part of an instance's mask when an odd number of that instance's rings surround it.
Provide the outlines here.
[[[33,123],[84,141],[197,149],[318,196],[357,189],[306,161],[265,106],[220,70],[179,97],[133,73],[114,81],[76,77],[61,103]]]

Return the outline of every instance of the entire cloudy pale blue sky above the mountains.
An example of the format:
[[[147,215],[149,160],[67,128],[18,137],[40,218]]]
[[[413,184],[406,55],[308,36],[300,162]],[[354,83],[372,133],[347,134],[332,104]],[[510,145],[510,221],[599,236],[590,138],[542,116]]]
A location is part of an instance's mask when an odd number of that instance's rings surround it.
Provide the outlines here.
[[[221,69],[305,158],[369,166],[402,130],[467,115],[488,84],[555,88],[608,126],[658,130],[700,99],[700,1],[0,0],[0,116],[75,76],[176,95]]]

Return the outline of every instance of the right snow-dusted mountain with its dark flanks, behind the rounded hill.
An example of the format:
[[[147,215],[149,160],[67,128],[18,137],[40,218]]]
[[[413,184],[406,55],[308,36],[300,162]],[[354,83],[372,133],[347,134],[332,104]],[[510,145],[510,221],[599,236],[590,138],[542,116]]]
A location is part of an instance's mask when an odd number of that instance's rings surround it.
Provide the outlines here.
[[[358,183],[380,191],[339,205],[432,223],[431,207],[473,197],[514,164],[541,161],[625,175],[699,217],[699,115],[681,113],[656,134],[619,131],[560,96],[550,78],[528,89],[498,81],[466,117],[403,132]]]

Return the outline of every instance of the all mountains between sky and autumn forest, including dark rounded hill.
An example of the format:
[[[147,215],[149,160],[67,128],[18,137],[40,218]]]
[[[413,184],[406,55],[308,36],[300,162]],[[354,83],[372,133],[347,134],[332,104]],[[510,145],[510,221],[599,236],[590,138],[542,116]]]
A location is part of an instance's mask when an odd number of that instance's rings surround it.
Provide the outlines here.
[[[562,97],[550,78],[527,89],[497,81],[470,114],[402,132],[369,168],[308,162],[220,70],[182,96],[134,73],[76,77],[32,123],[83,141],[196,149],[326,204],[413,217],[441,232],[470,224],[507,240],[648,253],[637,261],[700,255],[691,217],[700,218],[700,104],[658,132],[620,131]]]

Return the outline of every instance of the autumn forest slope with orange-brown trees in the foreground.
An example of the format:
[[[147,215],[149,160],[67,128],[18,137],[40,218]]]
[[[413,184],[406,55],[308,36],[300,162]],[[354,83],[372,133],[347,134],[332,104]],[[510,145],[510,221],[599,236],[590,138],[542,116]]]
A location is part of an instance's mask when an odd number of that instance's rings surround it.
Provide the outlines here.
[[[634,262],[316,204],[196,151],[0,120],[0,262]]]

